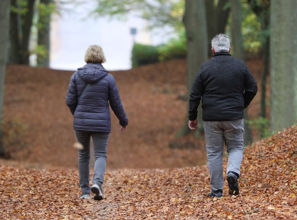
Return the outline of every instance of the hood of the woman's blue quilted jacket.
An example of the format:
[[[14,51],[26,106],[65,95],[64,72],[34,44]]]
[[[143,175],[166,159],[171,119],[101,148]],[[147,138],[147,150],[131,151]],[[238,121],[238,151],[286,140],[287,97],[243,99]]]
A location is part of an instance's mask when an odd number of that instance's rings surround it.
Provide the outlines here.
[[[97,82],[108,74],[108,71],[101,63],[87,63],[85,66],[78,68],[77,72],[79,77],[87,83]]]

